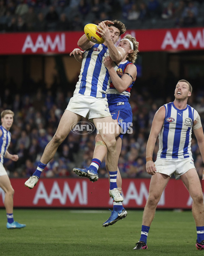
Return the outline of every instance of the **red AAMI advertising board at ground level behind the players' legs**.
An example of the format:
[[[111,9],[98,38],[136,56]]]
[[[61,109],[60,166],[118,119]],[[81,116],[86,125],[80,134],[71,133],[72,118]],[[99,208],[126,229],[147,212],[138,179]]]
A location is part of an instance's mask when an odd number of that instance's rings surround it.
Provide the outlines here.
[[[107,179],[90,182],[85,178],[41,178],[33,189],[24,186],[27,179],[11,179],[15,190],[14,207],[24,208],[110,208]],[[203,182],[202,182],[203,183]],[[123,205],[125,208],[145,207],[150,179],[123,179]],[[203,185],[203,184],[202,184]],[[0,207],[4,207],[4,192],[0,189]],[[192,198],[181,180],[170,179],[157,208],[191,209]]]

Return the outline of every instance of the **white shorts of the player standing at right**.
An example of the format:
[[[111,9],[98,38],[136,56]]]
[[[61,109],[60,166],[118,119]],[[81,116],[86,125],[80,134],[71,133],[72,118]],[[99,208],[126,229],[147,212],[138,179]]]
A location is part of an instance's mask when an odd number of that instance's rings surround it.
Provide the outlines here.
[[[184,159],[157,159],[155,162],[156,171],[159,173],[167,174],[171,177],[174,174],[176,180],[180,179],[180,176],[186,173],[188,170],[194,168],[194,162],[192,157]]]

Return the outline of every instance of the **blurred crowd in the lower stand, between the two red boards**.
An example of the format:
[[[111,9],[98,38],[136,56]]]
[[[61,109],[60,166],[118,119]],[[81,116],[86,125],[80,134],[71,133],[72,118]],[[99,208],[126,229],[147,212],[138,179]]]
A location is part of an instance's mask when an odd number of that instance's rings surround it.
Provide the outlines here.
[[[186,79],[193,87],[193,94],[188,104],[199,112],[201,122],[204,124],[203,78],[192,80],[186,77]],[[146,173],[145,164],[146,144],[152,120],[161,105],[174,100],[173,94],[178,80],[179,78],[171,74],[171,78],[166,77],[162,84],[153,77],[144,82],[138,78],[135,82],[130,98],[133,111],[133,132],[123,137],[118,163],[122,177],[150,177]],[[46,89],[41,84],[34,84],[34,82],[31,84],[27,81],[25,87],[17,90],[12,81],[10,84],[1,82],[0,112],[4,109],[11,109],[15,113],[14,124],[11,128],[12,140],[8,151],[18,154],[19,160],[13,162],[5,159],[4,166],[10,177],[29,177],[33,174],[45,146],[52,139],[72,97],[73,91],[67,91],[67,88],[73,86],[68,85],[62,88],[60,84],[55,84],[53,89]],[[30,93],[26,87],[30,88]],[[32,88],[35,89],[32,90]],[[41,176],[76,177],[72,168],[89,166],[95,148],[95,136],[96,132],[82,135],[70,132]],[[195,167],[201,177],[204,166],[194,136],[191,148]],[[156,160],[157,151],[158,141],[154,149],[154,160]],[[99,168],[99,177],[107,177],[104,160]]]

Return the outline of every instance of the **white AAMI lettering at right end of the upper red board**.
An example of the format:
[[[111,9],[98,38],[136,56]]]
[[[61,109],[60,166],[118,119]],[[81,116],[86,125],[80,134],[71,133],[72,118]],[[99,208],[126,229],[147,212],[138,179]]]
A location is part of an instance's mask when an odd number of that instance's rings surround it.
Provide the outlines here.
[[[193,47],[196,47],[199,45],[200,48],[204,48],[204,29],[198,30],[194,37],[190,30],[187,31],[186,37],[183,31],[179,30],[175,41],[173,39],[171,31],[167,31],[161,48],[165,49],[167,45],[170,45],[173,49],[176,49],[178,48],[179,45],[183,45],[185,49],[188,49],[190,46],[190,43],[192,44]]]

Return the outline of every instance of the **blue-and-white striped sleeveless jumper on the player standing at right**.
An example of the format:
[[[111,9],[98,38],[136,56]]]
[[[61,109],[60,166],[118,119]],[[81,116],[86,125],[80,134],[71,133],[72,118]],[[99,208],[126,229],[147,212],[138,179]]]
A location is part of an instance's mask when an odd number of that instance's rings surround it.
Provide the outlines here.
[[[192,157],[191,134],[198,112],[187,105],[177,109],[173,102],[165,104],[166,115],[159,133],[157,159],[184,159]]]

